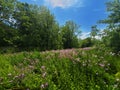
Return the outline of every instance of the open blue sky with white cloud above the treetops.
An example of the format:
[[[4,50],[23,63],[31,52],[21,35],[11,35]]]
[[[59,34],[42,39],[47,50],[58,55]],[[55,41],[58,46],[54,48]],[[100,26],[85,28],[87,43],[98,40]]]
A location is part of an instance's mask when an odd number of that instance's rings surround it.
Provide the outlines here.
[[[92,25],[96,25],[98,20],[107,17],[105,3],[109,0],[19,0],[30,4],[45,5],[56,17],[56,21],[63,25],[68,20],[73,20],[80,25],[86,37]],[[103,29],[105,25],[98,25]]]

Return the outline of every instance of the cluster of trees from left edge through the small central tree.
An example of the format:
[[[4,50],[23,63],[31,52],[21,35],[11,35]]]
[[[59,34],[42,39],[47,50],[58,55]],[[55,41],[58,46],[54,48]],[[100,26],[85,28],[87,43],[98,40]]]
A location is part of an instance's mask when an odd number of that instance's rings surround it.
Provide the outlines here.
[[[51,50],[78,47],[73,21],[60,26],[45,6],[0,0],[0,47]]]

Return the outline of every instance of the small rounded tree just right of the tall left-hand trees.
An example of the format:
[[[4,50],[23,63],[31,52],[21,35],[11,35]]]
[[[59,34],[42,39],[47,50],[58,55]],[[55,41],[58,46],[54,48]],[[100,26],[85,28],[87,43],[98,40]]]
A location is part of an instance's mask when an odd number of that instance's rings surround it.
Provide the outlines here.
[[[62,27],[62,41],[64,48],[78,47],[77,34],[79,32],[79,26],[73,21],[67,21]]]

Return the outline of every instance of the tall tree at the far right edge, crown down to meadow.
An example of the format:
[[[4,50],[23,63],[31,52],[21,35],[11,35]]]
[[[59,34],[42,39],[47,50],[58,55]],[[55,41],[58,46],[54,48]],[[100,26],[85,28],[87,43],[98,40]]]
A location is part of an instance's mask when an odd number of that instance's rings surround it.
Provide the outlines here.
[[[100,20],[100,23],[108,24],[103,40],[107,42],[105,44],[107,47],[118,53],[120,51],[120,0],[109,1],[107,11],[109,12],[107,19]]]

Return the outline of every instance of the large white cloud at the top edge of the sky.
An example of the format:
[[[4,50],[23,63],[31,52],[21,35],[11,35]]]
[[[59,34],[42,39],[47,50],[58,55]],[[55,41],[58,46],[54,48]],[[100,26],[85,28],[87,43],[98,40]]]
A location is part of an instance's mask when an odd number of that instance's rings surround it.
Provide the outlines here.
[[[83,0],[44,0],[45,4],[53,8],[69,8],[83,6]]]

